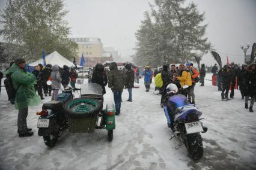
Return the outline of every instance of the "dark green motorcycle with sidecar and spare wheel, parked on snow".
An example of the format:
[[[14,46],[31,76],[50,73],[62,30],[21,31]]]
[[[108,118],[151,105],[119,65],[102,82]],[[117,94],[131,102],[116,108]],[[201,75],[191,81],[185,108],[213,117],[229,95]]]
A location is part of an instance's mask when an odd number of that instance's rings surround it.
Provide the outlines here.
[[[48,83],[49,84],[49,83]],[[72,90],[80,90],[81,98],[74,98]],[[107,129],[112,141],[115,129],[115,107],[108,104],[103,110],[102,87],[96,83],[81,86],[81,89],[66,87],[61,90],[57,101],[43,104],[38,112],[38,136],[44,144],[53,147],[66,129],[70,133],[92,133],[94,129]]]

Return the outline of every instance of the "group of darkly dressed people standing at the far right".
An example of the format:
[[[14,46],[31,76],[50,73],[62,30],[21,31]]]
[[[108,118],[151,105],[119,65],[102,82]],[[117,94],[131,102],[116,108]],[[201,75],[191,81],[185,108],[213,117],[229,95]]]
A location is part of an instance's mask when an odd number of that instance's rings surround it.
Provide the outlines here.
[[[230,65],[224,65],[223,68],[219,69],[217,72],[214,69],[213,75],[217,75],[218,81],[218,90],[221,91],[222,101],[229,101],[234,99],[234,89],[237,85],[237,89],[240,90],[241,99],[245,99],[245,108],[250,112],[252,110],[255,101],[256,95],[256,72],[255,72],[255,63],[251,65],[242,65],[242,69],[234,62],[231,62]],[[230,98],[228,98],[229,91]],[[250,105],[248,107],[248,101],[250,100]]]

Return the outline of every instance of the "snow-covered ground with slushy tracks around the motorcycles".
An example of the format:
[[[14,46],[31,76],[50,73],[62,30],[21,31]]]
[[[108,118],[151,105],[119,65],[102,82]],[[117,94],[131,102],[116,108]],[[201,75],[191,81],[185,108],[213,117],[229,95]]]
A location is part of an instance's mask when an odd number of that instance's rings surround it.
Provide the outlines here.
[[[67,132],[54,148],[44,145],[37,135],[35,112],[41,106],[29,108],[28,127],[34,136],[19,138],[17,111],[2,87],[0,169],[256,169],[256,106],[254,113],[245,110],[239,91],[233,100],[224,102],[212,81],[195,87],[196,104],[209,130],[201,134],[203,158],[193,161],[178,139],[169,141],[172,133],[160,108],[160,95],[153,94],[153,86],[146,93],[142,79],[139,85],[133,89],[133,102],[126,102],[128,92],[123,91],[112,142],[107,141],[105,129],[91,134]],[[108,88],[107,101],[113,101]]]

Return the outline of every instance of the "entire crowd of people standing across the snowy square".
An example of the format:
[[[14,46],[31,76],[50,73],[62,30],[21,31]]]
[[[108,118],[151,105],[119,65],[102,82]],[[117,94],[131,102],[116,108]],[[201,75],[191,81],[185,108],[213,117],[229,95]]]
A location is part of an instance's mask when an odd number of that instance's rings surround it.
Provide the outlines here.
[[[127,63],[123,69],[118,69],[117,63],[112,62],[109,65],[109,71],[101,63],[97,63],[90,74],[89,82],[97,83],[102,86],[103,95],[106,93],[105,86],[112,90],[114,95],[116,115],[120,114],[123,89],[127,89],[129,93],[128,102],[132,102],[132,89],[135,86],[134,83],[139,83],[139,68],[132,68],[133,65]],[[218,90],[220,90],[222,101],[228,101],[234,98],[234,88],[239,87],[242,99],[245,99],[245,108],[253,112],[252,107],[255,101],[256,95],[256,63],[249,66],[243,65],[242,69],[235,65],[233,62],[228,65],[224,65],[218,71],[218,67],[215,65],[212,69],[213,75],[218,75]],[[188,86],[187,99],[190,104],[195,104],[194,88],[196,83],[201,83],[200,86],[204,86],[204,78],[206,77],[206,68],[204,64],[201,65],[198,71],[194,68],[193,63],[180,64],[176,67],[174,64],[165,64],[160,69],[152,70],[150,66],[146,66],[141,74],[144,75],[145,91],[150,91],[150,85],[152,78],[156,77],[160,73],[162,80],[162,87],[159,90],[162,92],[162,98],[160,100],[160,106],[163,106],[163,100],[166,95],[166,87],[170,83],[174,83],[178,88],[184,85]],[[21,57],[18,57],[14,62],[10,63],[10,66],[5,71],[6,80],[9,80],[14,91],[14,96],[10,95],[11,87],[5,84],[7,94],[11,104],[14,104],[18,110],[18,133],[20,137],[31,136],[33,132],[31,128],[26,125],[26,117],[28,116],[28,107],[31,105],[41,104],[44,96],[51,96],[52,101],[56,101],[58,98],[58,89],[62,86],[72,86],[75,88],[76,79],[78,73],[75,68],[69,68],[64,65],[60,68],[58,65],[46,65],[38,64],[34,67],[29,67],[26,61]],[[0,72],[0,80],[3,74]],[[49,86],[47,81],[51,80],[52,84]],[[155,80],[156,81],[156,80]],[[0,81],[1,82],[1,81]],[[8,83],[8,82],[7,82]],[[1,84],[0,84],[1,85]],[[230,98],[228,98],[228,92],[231,87]],[[38,95],[36,94],[38,93]],[[1,94],[1,91],[0,91]],[[248,102],[250,100],[250,105]]]

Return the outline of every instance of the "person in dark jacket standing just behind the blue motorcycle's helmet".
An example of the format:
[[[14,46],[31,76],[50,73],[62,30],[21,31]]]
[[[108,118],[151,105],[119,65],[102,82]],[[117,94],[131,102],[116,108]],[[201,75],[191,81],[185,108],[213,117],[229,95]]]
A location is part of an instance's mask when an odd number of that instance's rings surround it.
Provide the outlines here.
[[[160,106],[163,107],[163,101],[164,101],[165,95],[166,95],[166,87],[168,86],[168,84],[172,83],[172,78],[173,78],[173,73],[171,71],[169,71],[168,64],[163,65],[161,75],[162,75],[162,80],[163,80],[163,86],[162,86],[163,92],[162,92]]]

